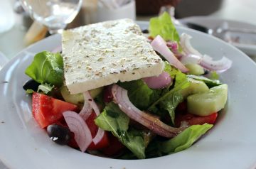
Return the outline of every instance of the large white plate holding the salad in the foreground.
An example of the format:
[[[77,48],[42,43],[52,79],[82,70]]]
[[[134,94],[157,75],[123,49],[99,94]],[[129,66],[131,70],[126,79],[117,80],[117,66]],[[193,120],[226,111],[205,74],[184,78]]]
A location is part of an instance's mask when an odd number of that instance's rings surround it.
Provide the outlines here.
[[[146,25],[142,24],[142,28]],[[0,72],[0,159],[9,168],[254,168],[256,163],[255,62],[240,50],[204,33],[178,28],[213,58],[223,55],[233,67],[221,75],[229,85],[228,106],[215,127],[186,151],[147,160],[113,160],[81,153],[50,141],[31,116],[31,97],[22,85],[34,53],[53,50],[60,36],[50,36],[26,48]]]

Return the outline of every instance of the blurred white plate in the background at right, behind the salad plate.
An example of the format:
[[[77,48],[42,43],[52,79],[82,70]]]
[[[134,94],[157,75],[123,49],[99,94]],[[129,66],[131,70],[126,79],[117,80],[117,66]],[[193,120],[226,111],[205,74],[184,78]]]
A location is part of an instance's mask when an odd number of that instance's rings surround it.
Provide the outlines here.
[[[256,26],[251,23],[245,23],[240,21],[231,21],[226,19],[220,19],[220,18],[213,18],[208,16],[192,16],[188,18],[182,18],[179,21],[181,23],[198,23],[201,26],[206,26],[207,28],[216,28],[218,26],[221,26],[222,23],[226,22],[228,23],[228,26],[230,28],[246,28],[251,30],[256,30]],[[250,43],[232,43],[232,45],[235,45],[235,47],[242,50],[247,55],[256,55],[256,34],[243,34],[243,33],[236,33],[236,37],[240,38],[242,41],[247,41]]]

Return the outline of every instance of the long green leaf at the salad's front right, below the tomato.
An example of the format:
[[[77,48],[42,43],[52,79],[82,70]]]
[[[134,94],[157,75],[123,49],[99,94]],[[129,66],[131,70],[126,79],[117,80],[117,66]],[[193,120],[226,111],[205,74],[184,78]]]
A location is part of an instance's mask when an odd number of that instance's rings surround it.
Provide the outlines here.
[[[193,125],[179,133],[178,136],[169,141],[159,143],[159,148],[163,153],[176,153],[189,148],[206,131],[213,127],[213,124]]]

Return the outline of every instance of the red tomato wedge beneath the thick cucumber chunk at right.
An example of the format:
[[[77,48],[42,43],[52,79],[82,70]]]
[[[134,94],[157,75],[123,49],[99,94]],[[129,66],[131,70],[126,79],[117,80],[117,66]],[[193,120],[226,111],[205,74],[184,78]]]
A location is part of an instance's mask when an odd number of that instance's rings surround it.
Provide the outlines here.
[[[197,116],[194,114],[176,114],[175,124],[176,126],[181,126],[181,121],[186,121],[189,125],[196,124],[215,124],[218,113],[213,113],[208,116]]]

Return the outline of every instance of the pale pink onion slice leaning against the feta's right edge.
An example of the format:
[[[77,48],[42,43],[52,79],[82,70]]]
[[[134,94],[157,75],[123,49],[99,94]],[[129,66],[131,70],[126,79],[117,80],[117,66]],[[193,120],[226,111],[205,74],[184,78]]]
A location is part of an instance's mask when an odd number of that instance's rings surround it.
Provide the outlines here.
[[[174,53],[169,50],[166,45],[166,41],[161,38],[161,36],[156,36],[154,40],[151,42],[151,46],[159,52],[168,62],[170,62],[174,67],[181,70],[181,72],[188,72],[188,69],[176,58]]]

